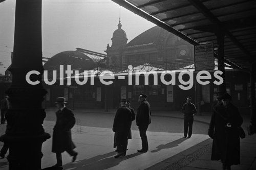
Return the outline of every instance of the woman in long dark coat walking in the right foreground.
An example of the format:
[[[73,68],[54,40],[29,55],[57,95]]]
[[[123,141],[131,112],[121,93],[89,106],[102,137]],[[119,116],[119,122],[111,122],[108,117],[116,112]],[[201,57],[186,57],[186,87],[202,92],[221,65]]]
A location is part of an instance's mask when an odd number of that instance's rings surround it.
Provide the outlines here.
[[[214,107],[208,135],[214,139],[211,160],[221,160],[223,169],[240,164],[239,127],[243,123],[238,108],[230,103],[231,96],[224,94],[222,102]]]

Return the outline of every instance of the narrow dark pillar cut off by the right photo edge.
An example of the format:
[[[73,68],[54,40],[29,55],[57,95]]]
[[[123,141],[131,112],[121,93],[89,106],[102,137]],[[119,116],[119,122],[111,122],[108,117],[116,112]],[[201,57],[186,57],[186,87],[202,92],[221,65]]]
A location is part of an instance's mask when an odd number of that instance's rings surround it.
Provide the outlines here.
[[[250,104],[251,104],[251,125],[256,133],[256,100],[255,100],[255,63],[250,65]]]

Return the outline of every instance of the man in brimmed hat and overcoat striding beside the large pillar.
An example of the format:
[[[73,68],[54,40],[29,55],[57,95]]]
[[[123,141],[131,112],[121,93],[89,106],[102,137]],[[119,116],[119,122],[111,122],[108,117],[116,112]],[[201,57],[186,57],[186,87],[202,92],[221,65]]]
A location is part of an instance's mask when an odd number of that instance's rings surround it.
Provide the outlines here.
[[[57,164],[54,167],[62,169],[62,158],[61,153],[67,151],[70,156],[73,157],[72,162],[76,160],[77,152],[73,149],[75,144],[72,141],[71,129],[75,125],[75,116],[70,109],[68,109],[65,104],[65,98],[57,98],[57,108],[56,112],[56,124],[53,128],[52,135],[52,152],[56,153]]]

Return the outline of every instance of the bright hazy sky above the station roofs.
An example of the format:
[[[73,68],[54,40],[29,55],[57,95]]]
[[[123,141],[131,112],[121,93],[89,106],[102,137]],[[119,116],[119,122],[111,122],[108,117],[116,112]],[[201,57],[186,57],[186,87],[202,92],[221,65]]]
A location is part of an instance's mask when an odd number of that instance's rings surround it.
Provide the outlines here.
[[[10,65],[14,39],[15,1],[0,4],[0,74]],[[104,53],[119,21],[119,5],[111,0],[42,0],[42,56],[76,47]],[[121,7],[128,42],[155,25]]]

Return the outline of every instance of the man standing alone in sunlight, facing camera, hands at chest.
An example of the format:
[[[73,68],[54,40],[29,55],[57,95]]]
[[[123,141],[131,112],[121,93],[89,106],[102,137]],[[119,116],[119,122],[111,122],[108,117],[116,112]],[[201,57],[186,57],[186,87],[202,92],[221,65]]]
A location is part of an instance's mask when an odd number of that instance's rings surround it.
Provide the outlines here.
[[[194,114],[197,112],[196,106],[191,103],[191,97],[186,98],[187,103],[183,104],[181,112],[184,114],[184,138],[187,137],[188,129],[188,138],[192,135],[192,128],[194,122]]]

